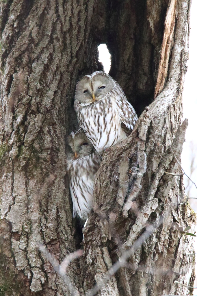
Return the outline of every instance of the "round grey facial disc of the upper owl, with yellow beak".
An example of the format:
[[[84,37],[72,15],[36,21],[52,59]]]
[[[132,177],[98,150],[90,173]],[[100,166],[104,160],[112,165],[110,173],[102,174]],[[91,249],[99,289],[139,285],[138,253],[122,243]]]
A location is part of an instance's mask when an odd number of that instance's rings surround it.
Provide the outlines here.
[[[112,91],[113,79],[102,71],[84,76],[76,86],[75,100],[80,103],[92,103],[102,99]]]

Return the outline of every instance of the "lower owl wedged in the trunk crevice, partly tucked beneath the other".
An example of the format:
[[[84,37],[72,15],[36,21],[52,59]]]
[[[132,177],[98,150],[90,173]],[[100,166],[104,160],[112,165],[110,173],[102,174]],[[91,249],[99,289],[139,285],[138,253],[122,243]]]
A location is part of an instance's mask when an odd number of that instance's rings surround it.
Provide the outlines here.
[[[73,203],[73,217],[86,220],[93,207],[93,189],[101,157],[82,129],[68,136],[67,172]]]

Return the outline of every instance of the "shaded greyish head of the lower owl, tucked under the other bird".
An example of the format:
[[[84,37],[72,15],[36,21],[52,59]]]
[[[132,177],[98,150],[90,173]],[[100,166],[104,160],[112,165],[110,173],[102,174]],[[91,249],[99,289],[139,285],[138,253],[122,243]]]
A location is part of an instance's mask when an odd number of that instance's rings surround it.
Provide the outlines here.
[[[94,151],[92,143],[82,129],[79,129],[75,133],[72,132],[68,136],[68,145],[70,146],[70,152],[67,153],[68,160],[88,156]]]

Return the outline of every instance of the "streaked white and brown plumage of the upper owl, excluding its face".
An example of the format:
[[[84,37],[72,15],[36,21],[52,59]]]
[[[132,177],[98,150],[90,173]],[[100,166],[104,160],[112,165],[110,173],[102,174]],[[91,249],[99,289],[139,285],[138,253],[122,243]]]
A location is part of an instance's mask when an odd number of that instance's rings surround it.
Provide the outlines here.
[[[79,126],[83,128],[96,151],[102,155],[104,149],[127,137],[121,128],[121,123],[124,123],[132,131],[138,116],[132,105],[127,101],[122,88],[111,76],[97,71],[92,75],[87,75],[87,77],[91,81],[92,77],[97,74],[104,75],[112,80],[113,89],[103,98],[90,103],[79,102],[75,95],[74,107]]]

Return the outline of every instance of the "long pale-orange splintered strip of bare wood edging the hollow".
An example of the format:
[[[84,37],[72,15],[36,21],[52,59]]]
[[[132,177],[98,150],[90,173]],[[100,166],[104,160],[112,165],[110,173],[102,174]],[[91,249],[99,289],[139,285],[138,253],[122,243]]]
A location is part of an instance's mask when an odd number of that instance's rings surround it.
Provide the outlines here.
[[[155,87],[154,99],[162,89],[167,78],[168,61],[170,55],[170,49],[172,44],[172,38],[175,30],[175,15],[176,15],[177,0],[171,0],[167,9],[166,19],[164,22],[164,36],[160,51],[160,62],[157,76],[157,83]]]

